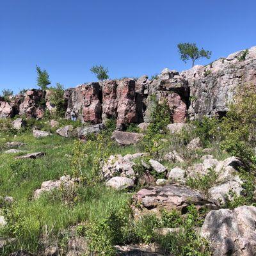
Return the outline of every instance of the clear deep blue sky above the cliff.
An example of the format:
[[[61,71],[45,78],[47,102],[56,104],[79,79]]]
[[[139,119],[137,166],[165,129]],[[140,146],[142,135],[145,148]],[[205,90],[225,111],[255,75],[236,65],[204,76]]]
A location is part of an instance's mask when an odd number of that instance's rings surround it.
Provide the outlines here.
[[[65,88],[111,78],[184,70],[179,42],[211,60],[256,45],[255,0],[0,0],[0,90],[36,88],[35,66]]]

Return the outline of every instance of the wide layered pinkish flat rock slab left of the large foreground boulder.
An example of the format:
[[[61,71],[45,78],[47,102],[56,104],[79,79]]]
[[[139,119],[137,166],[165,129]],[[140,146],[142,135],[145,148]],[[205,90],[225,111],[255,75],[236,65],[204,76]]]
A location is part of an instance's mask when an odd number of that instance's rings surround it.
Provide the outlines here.
[[[191,204],[198,209],[203,206],[216,209],[216,205],[199,191],[177,184],[143,188],[134,195],[134,203],[134,205],[140,205],[141,210],[164,208],[166,210],[177,209],[186,213],[188,205]]]

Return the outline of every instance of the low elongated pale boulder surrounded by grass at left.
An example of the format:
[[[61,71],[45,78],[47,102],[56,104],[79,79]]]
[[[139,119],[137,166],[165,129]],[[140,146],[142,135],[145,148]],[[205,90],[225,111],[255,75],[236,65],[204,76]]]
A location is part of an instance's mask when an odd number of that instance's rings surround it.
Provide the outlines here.
[[[60,188],[71,188],[74,186],[75,180],[71,179],[69,175],[65,175],[60,177],[59,180],[47,180],[44,181],[41,185],[40,189],[36,189],[34,192],[33,198],[38,199],[42,193],[50,192],[54,189],[60,189]]]

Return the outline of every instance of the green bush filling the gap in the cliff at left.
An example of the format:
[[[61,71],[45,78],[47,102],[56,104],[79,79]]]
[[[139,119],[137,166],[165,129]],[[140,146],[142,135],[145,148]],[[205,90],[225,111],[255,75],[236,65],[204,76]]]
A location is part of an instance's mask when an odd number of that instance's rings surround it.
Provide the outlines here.
[[[49,100],[54,108],[56,108],[52,114],[54,114],[55,117],[62,117],[65,114],[64,87],[62,84],[56,83],[56,87],[51,87],[50,90]]]

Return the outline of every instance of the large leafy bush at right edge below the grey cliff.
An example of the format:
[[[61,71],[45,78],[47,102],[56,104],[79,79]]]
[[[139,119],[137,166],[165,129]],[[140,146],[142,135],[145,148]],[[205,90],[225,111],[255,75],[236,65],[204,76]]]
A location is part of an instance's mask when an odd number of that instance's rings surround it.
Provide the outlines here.
[[[220,123],[221,148],[254,168],[256,156],[256,88],[238,86],[230,110]],[[254,167],[253,167],[254,166]]]

